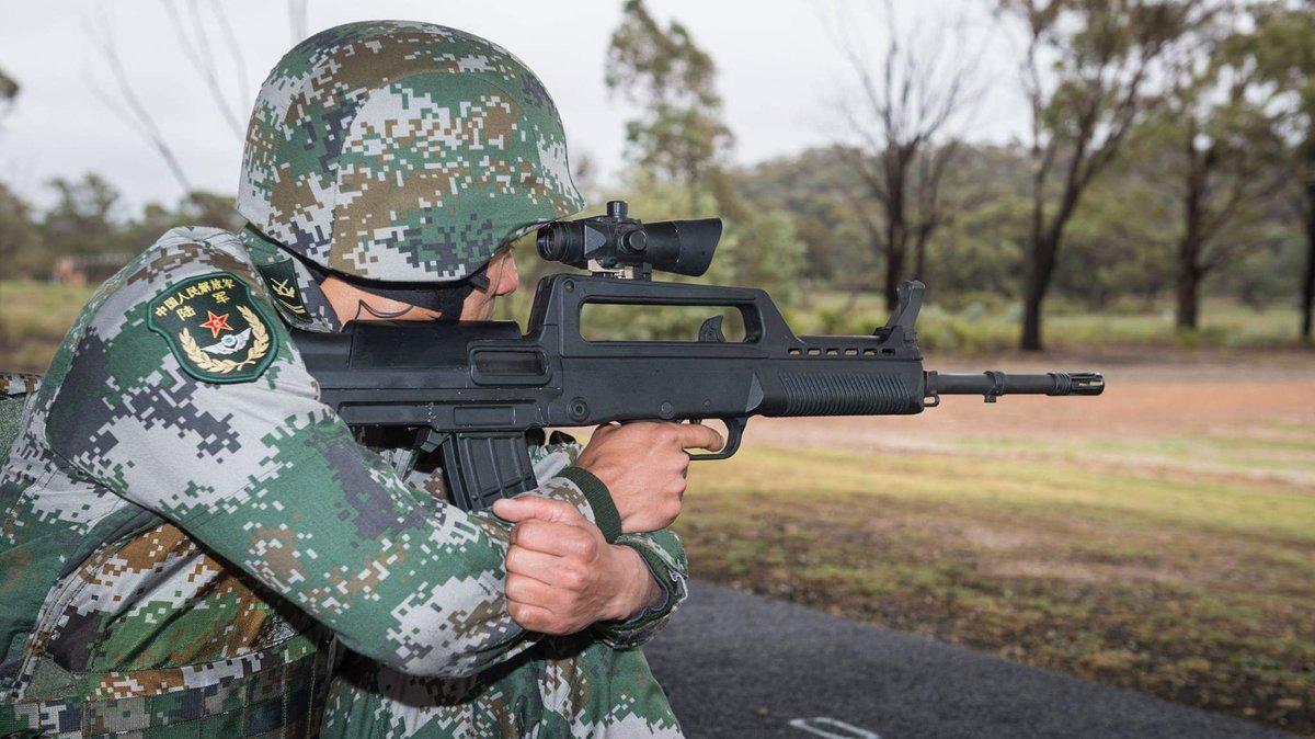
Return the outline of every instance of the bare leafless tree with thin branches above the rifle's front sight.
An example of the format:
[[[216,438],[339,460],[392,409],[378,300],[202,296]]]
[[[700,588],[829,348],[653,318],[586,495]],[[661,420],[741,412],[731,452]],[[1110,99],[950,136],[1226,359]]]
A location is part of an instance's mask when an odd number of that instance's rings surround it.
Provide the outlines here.
[[[859,24],[836,18],[856,91],[839,107],[844,141],[835,154],[863,183],[851,203],[885,262],[882,292],[894,308],[910,251],[914,276],[922,277],[927,243],[948,218],[940,185],[959,146],[949,129],[976,97],[980,53],[965,53],[964,38],[943,32],[915,32],[906,45],[889,0],[882,12],[888,38],[876,60],[855,32]]]

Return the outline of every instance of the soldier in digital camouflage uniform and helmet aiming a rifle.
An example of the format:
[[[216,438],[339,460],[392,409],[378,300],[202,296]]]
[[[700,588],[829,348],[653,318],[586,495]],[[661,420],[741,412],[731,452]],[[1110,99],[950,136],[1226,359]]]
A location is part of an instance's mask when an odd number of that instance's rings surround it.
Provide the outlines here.
[[[581,205],[552,100],[488,41],[380,21],[289,51],[246,229],[164,234],[22,406],[0,735],[677,736],[635,647],[685,596],[682,450],[721,439],[554,439],[537,490],[462,512],[318,402],[288,330],[487,320],[508,245]]]

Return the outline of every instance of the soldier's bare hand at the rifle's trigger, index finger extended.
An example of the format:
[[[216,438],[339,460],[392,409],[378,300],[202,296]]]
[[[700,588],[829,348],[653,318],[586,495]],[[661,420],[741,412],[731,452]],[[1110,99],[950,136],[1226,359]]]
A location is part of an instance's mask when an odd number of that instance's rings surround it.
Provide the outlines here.
[[[636,421],[598,426],[576,467],[608,485],[626,534],[665,529],[680,515],[686,448],[717,451],[722,435],[697,423]]]

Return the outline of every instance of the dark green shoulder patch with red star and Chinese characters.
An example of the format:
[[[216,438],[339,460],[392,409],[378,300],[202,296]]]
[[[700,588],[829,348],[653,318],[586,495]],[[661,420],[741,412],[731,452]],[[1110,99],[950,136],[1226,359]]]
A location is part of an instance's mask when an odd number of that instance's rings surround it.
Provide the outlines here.
[[[151,300],[146,325],[164,337],[188,375],[206,383],[250,383],[279,348],[270,321],[233,272],[170,285]]]

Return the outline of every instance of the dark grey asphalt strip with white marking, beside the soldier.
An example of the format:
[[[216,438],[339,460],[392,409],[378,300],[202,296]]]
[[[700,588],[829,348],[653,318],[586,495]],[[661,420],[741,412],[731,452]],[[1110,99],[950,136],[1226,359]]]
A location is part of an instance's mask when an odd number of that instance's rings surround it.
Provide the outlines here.
[[[689,736],[1286,736],[694,583],[644,648]]]

